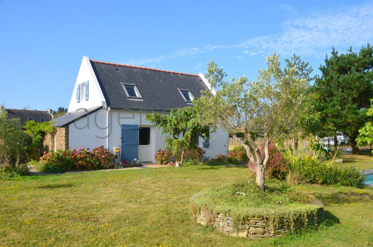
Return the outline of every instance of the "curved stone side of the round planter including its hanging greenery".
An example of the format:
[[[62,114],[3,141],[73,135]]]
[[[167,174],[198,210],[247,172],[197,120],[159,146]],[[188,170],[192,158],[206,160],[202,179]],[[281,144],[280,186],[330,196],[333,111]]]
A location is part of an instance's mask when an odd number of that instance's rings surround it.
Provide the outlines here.
[[[288,214],[274,212],[276,220],[273,217],[265,216],[265,213],[264,216],[258,213],[257,216],[243,216],[237,223],[234,220],[235,217],[218,212],[213,206],[201,207],[194,204],[196,198],[198,198],[198,193],[191,200],[192,218],[202,225],[213,226],[226,235],[238,237],[278,237],[299,230],[304,226],[319,225],[324,219],[323,203],[316,199],[311,204],[305,204],[305,207],[289,209]],[[254,212],[256,212],[255,209]],[[260,212],[260,209],[257,212]],[[289,218],[286,218],[286,215],[292,215],[292,223]]]

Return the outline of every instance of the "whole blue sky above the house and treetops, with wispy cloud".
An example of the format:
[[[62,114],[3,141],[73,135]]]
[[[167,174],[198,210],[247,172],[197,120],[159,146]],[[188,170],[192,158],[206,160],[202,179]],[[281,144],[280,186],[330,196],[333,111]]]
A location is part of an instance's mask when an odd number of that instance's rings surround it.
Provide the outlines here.
[[[353,2],[353,4],[351,4]],[[335,46],[373,43],[373,1],[0,0],[0,100],[6,107],[68,107],[82,56],[252,80],[272,51],[315,74]]]

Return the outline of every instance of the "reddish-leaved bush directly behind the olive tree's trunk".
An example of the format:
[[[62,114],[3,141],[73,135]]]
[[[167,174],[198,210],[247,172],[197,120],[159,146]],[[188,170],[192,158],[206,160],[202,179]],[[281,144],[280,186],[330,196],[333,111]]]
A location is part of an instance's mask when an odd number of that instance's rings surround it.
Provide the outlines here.
[[[263,148],[261,148],[263,150]],[[264,152],[261,151],[261,157],[264,158]],[[249,162],[248,167],[250,172],[255,174],[254,164]],[[274,144],[269,144],[269,160],[266,166],[266,174],[270,178],[284,179],[287,173],[286,160],[283,154],[276,148]]]

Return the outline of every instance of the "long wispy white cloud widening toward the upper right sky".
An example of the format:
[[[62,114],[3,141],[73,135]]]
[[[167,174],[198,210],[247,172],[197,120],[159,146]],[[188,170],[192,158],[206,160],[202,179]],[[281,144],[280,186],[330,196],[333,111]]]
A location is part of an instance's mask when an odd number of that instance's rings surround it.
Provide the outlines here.
[[[292,12],[291,20],[283,23],[277,34],[257,36],[231,45],[208,44],[176,51],[170,55],[129,60],[129,64],[144,65],[171,59],[185,59],[195,54],[215,50],[238,50],[247,56],[267,55],[276,51],[282,56],[293,53],[308,56],[325,56],[332,46],[364,46],[373,42],[373,2],[339,9],[319,10],[297,15],[292,7],[280,6]],[[242,56],[236,56],[241,59]]]

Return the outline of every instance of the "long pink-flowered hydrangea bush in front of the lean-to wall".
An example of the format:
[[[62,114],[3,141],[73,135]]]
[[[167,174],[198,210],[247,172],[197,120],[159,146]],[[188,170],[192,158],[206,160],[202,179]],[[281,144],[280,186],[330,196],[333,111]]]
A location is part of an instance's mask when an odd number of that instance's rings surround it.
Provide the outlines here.
[[[85,171],[114,168],[114,154],[103,146],[44,152],[36,168],[41,172]]]

